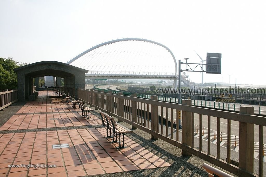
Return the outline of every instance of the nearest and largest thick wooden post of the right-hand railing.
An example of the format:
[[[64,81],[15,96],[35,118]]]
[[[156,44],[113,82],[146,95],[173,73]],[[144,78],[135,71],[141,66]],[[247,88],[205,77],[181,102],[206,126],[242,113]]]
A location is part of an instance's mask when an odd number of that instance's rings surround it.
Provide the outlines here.
[[[241,114],[254,115],[254,107],[240,106]],[[239,168],[253,173],[254,156],[254,124],[239,122]],[[239,176],[244,176],[239,170]]]

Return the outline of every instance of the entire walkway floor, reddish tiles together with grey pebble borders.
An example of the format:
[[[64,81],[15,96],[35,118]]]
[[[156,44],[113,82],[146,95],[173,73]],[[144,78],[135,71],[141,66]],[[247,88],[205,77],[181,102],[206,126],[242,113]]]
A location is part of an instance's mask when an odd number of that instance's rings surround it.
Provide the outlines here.
[[[122,125],[130,128],[124,122]],[[196,156],[183,157],[182,150],[162,140],[151,140],[139,129],[127,134],[128,148],[116,150],[110,144],[99,113],[89,119],[63,98],[47,98],[40,91],[37,100],[16,102],[0,114],[0,177],[2,176],[207,176]],[[52,149],[68,144],[69,148]],[[8,165],[56,165],[8,167]]]

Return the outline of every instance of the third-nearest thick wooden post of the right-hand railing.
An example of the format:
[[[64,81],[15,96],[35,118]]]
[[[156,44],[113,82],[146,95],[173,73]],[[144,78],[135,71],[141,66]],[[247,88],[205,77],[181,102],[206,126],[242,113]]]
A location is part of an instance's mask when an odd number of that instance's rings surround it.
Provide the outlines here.
[[[158,96],[151,96],[151,100],[158,100]],[[149,114],[149,113],[148,113]],[[148,120],[149,121],[149,120]],[[159,112],[158,106],[151,104],[151,129],[155,132],[159,132]],[[151,139],[158,140],[158,137],[151,136]]]

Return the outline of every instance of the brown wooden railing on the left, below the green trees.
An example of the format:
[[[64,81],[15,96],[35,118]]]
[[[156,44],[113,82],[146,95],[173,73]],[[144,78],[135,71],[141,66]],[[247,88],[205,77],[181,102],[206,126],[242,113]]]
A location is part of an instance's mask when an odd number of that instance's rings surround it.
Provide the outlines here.
[[[0,90],[0,110],[18,101],[18,90]]]

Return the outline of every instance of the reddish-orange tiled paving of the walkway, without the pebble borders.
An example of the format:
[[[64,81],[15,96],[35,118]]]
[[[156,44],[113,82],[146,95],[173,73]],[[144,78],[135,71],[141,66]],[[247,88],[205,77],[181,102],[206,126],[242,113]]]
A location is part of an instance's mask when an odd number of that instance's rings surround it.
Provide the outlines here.
[[[20,129],[22,131],[20,133],[0,134],[0,177],[74,177],[170,166],[169,163],[127,136],[125,136],[125,144],[128,147],[120,150],[115,149],[118,143],[110,144],[109,140],[104,138],[107,134],[104,127],[23,132],[23,129],[32,128],[84,125],[97,125],[99,127],[101,124],[99,116],[90,114],[90,119],[84,119],[78,108],[72,109],[71,105],[62,99],[41,99],[42,101],[38,99],[38,101],[28,102],[23,106],[23,111],[29,110],[27,114],[23,114],[22,109],[20,109],[0,128],[0,130]],[[68,109],[64,112],[50,113],[49,107],[46,107],[46,112],[41,114],[30,113],[32,105],[45,106],[40,105],[40,103],[54,104],[56,107],[65,106]],[[29,109],[29,107],[31,108]],[[68,144],[69,148],[52,149],[52,145],[59,144]],[[56,168],[8,166],[20,164],[56,165]]]

